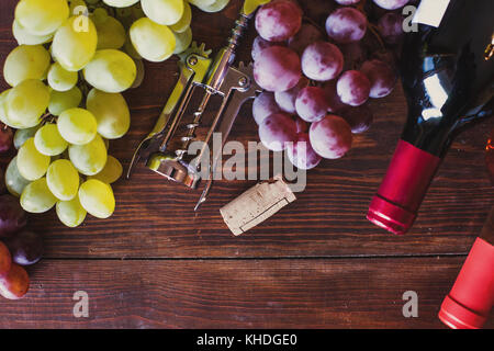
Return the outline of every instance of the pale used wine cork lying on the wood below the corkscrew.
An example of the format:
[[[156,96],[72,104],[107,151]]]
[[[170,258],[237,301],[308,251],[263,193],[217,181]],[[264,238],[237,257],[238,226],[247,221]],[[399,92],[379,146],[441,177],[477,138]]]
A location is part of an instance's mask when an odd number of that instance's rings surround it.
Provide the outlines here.
[[[281,176],[261,182],[247,190],[240,196],[226,204],[220,213],[235,236],[254,228],[278,211],[295,201],[290,186]]]

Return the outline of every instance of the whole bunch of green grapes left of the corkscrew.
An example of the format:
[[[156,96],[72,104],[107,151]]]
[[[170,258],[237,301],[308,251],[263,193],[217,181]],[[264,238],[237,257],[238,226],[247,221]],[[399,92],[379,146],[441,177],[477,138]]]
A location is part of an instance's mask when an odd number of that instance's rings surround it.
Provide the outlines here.
[[[30,213],[56,208],[68,227],[115,210],[122,176],[108,155],[131,112],[122,93],[137,88],[143,59],[164,61],[192,42],[191,4],[217,12],[228,0],[20,0],[19,44],[7,57],[0,121],[15,128],[18,155],[8,191]]]

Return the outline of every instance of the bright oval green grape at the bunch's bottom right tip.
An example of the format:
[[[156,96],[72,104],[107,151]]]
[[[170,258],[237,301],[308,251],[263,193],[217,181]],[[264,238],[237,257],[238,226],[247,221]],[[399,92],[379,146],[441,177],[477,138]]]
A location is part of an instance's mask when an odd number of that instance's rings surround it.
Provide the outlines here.
[[[80,185],[79,200],[82,207],[97,218],[108,218],[115,211],[112,188],[97,179],[87,180]]]

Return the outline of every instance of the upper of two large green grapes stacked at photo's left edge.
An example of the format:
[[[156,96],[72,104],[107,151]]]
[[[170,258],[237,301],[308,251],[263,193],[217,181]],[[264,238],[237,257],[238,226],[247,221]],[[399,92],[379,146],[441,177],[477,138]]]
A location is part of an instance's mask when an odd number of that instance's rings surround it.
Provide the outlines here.
[[[43,45],[21,45],[7,56],[3,78],[11,87],[26,79],[44,79],[50,56]]]

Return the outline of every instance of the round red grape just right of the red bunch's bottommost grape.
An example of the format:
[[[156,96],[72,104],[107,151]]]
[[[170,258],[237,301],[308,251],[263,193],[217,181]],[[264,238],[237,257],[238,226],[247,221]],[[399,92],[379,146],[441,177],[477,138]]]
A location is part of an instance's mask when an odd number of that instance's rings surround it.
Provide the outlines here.
[[[308,136],[313,149],[324,158],[341,158],[351,148],[350,125],[344,118],[333,114],[313,123]]]

